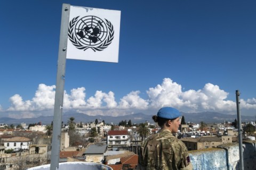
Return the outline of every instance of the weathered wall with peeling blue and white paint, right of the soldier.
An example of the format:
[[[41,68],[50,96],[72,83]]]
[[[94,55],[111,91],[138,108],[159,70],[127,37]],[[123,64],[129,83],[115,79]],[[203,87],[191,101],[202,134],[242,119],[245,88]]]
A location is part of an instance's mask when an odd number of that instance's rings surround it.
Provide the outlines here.
[[[243,141],[244,169],[256,169],[256,141]],[[218,148],[189,151],[193,169],[239,169],[239,145],[227,143]]]

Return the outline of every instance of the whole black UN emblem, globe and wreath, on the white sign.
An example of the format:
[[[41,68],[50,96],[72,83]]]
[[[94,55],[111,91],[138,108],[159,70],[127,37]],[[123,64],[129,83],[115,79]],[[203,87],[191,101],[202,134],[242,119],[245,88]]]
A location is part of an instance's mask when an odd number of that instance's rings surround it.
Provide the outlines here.
[[[94,52],[107,48],[114,39],[114,28],[108,20],[97,16],[79,16],[69,22],[68,37],[78,49],[91,48]]]

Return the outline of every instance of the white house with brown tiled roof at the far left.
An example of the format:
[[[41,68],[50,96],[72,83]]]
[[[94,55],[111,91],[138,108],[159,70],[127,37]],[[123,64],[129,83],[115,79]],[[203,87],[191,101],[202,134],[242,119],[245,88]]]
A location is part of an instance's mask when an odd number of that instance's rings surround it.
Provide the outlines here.
[[[4,140],[5,150],[15,148],[28,149],[30,143],[31,140],[25,137],[13,137],[11,139]]]

